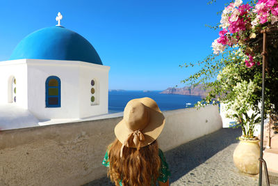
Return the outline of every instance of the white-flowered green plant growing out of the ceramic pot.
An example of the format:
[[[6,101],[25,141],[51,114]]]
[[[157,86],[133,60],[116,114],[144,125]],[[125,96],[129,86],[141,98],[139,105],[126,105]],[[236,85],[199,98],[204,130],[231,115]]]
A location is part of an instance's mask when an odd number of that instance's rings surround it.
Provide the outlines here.
[[[221,97],[221,103],[227,111],[226,117],[240,123],[243,137],[252,139],[254,124],[261,120],[261,111],[255,104],[260,100],[256,97],[256,92],[261,91],[261,87],[256,83],[257,79],[246,80],[241,77],[240,71],[237,64],[230,63],[218,74],[217,80],[221,88],[227,90],[226,95]]]

